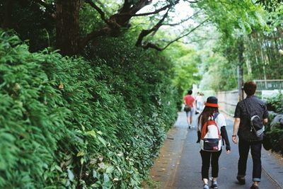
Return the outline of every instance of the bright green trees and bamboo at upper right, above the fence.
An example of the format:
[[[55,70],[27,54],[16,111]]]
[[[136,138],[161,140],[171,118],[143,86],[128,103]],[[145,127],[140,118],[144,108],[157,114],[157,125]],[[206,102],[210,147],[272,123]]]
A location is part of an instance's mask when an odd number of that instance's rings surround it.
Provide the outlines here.
[[[244,43],[243,79],[282,79],[282,10],[277,4],[273,12],[253,1],[200,1],[195,4],[209,16],[214,26],[207,33],[208,41],[214,41],[210,48],[213,56],[203,61],[206,75],[201,86],[214,91],[229,91],[237,88],[238,41]],[[243,8],[245,7],[245,8]],[[216,30],[213,28],[216,28]],[[219,35],[219,38],[212,36]],[[213,47],[213,49],[211,48]],[[220,61],[215,62],[214,59]],[[207,65],[213,67],[207,67]],[[209,78],[207,78],[209,77]],[[211,81],[207,83],[207,81]]]

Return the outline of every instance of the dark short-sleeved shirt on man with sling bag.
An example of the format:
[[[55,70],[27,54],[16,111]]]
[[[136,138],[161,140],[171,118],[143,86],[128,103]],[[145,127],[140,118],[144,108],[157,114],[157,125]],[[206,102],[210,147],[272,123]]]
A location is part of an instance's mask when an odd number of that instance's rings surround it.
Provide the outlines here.
[[[247,96],[243,101],[246,101],[246,104],[249,106],[248,110],[250,111],[250,115],[258,115],[262,120],[268,117],[265,103],[256,96]],[[251,131],[250,116],[248,115],[246,105],[243,101],[238,102],[234,115],[234,118],[241,119],[238,137],[247,141],[257,141],[258,139],[255,133]]]

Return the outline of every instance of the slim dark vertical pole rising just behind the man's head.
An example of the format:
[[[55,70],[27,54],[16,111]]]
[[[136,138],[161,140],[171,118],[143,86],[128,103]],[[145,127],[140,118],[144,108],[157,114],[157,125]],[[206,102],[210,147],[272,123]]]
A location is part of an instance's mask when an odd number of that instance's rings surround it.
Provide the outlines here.
[[[238,40],[238,100],[243,100],[243,37]]]

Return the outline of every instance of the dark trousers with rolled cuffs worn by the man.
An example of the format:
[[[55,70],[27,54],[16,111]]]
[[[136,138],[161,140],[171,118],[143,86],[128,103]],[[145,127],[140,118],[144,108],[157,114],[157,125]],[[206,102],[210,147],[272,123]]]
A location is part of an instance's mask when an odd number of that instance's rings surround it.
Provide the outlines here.
[[[248,142],[244,139],[239,139],[238,150],[240,159],[238,160],[238,176],[246,176],[248,151],[252,154],[253,158],[253,181],[260,182],[261,178],[261,147],[262,141]]]

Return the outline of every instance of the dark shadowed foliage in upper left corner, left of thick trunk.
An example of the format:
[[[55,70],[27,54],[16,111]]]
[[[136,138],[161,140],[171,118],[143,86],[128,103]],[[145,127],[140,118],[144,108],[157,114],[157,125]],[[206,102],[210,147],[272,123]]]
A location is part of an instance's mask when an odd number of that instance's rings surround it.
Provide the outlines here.
[[[0,23],[5,19],[7,2],[0,0]],[[13,1],[12,5],[11,18],[8,19],[7,26],[16,30],[21,40],[28,41],[31,52],[54,45],[55,22],[50,12],[40,8],[40,4],[36,4],[35,1]],[[54,5],[50,4],[50,8],[55,10]]]

